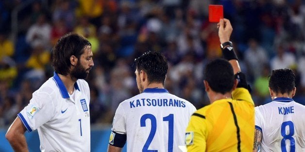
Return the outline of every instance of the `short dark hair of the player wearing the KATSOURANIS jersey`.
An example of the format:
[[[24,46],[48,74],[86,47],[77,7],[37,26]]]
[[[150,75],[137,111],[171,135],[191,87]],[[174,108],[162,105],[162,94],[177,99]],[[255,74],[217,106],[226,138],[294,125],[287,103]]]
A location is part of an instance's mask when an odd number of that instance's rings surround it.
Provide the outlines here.
[[[140,73],[141,70],[147,73],[148,81],[150,83],[163,83],[168,72],[168,62],[165,56],[159,52],[146,52],[135,59],[135,66]]]

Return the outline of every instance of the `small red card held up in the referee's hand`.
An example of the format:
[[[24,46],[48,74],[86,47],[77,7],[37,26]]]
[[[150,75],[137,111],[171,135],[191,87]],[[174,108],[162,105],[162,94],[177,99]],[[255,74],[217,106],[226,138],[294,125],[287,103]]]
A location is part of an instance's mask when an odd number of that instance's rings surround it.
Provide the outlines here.
[[[209,5],[209,21],[218,23],[220,18],[223,18],[223,6]]]

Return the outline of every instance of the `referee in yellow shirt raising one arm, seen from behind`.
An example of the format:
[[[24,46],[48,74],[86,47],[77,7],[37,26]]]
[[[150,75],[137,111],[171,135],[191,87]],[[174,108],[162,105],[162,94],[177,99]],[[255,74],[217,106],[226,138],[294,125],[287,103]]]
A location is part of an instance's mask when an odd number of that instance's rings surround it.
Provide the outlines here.
[[[251,152],[254,140],[254,102],[240,72],[228,19],[218,23],[223,57],[208,63],[204,87],[210,105],[197,110],[186,128],[188,152]]]

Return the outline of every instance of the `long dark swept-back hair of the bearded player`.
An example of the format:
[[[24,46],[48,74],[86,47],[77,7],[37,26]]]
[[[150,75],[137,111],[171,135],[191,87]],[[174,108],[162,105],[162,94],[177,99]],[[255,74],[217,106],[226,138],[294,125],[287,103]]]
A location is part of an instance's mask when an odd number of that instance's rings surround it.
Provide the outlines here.
[[[85,46],[91,46],[89,41],[76,33],[68,33],[61,37],[52,49],[52,66],[55,72],[64,76],[70,73],[70,57],[80,59]]]

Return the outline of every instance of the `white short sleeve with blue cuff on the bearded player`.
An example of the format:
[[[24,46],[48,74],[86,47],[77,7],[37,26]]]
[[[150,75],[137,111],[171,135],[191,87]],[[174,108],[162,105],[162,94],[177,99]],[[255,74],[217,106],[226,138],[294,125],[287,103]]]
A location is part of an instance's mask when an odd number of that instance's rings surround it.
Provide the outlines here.
[[[20,111],[18,117],[29,132],[36,130],[42,124],[51,120],[54,115],[54,105],[48,93],[34,92],[28,106]]]

